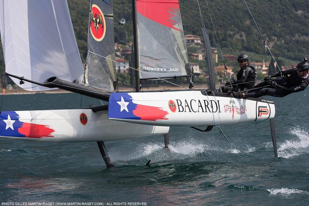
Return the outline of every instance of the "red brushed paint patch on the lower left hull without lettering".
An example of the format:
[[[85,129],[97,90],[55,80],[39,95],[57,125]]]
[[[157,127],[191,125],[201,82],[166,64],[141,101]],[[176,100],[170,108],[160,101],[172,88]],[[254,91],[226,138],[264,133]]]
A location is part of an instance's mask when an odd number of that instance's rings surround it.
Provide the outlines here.
[[[49,128],[46,125],[41,124],[31,124],[24,122],[20,128],[18,128],[18,132],[26,135],[26,137],[32,138],[41,138],[41,137],[54,137],[51,133],[55,132],[55,130]]]

